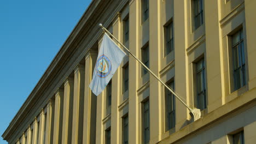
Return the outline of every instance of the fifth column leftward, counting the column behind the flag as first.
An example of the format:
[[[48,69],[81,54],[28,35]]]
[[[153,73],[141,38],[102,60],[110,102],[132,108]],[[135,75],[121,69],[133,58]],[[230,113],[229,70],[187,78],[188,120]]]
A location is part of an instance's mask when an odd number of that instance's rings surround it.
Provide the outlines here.
[[[54,124],[54,101],[50,99],[46,106],[46,130],[45,144],[53,143],[53,124]]]

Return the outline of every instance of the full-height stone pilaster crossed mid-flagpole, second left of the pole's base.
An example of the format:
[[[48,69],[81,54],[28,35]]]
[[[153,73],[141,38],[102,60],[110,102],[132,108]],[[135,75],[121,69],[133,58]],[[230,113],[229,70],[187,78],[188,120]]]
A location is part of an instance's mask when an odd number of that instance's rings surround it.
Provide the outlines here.
[[[155,49],[161,47],[160,38],[160,3],[161,1],[149,1],[149,58],[150,70],[159,76],[160,71],[160,50]],[[150,96],[149,96],[149,111],[150,111],[150,143],[157,143],[160,140],[161,134],[161,85],[160,82],[150,74]]]

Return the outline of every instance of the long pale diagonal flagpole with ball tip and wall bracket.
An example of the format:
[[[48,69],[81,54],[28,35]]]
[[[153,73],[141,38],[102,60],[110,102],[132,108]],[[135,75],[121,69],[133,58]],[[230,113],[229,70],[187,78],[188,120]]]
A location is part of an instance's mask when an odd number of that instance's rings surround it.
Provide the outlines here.
[[[179,98],[179,96],[178,96],[170,87],[168,87],[158,76],[156,76],[156,75],[153,73],[153,71],[151,71],[151,70],[150,70],[144,63],[142,63],[135,55],[133,55],[133,53],[132,53],[129,49],[127,49],[117,38],[115,38],[114,35],[112,35],[110,32],[108,32],[108,30],[107,30],[106,28],[104,28],[101,23],[100,23],[98,26],[100,26],[100,27],[103,29],[104,32],[107,32],[110,36],[112,36],[112,38],[114,38],[121,46],[124,47],[124,49],[125,49],[126,51],[128,51],[128,52],[130,53],[131,56],[133,56],[139,63],[141,63],[141,65],[142,65],[150,74],[152,74],[160,83],[162,83],[162,85],[164,85],[169,91],[171,91],[171,93],[172,93],[173,95],[175,95],[175,97],[176,97],[179,101],[181,101],[181,103],[182,103],[183,105],[185,105],[185,106],[189,109],[189,111],[193,114],[193,116],[194,116],[194,121],[195,121],[196,119],[199,119],[199,118],[201,117],[201,111],[200,111],[199,109],[191,109],[186,103],[184,103],[184,101],[183,101],[181,98]],[[195,112],[196,112],[196,113],[195,113]],[[199,113],[199,112],[200,112],[200,113]],[[197,115],[197,116],[195,116],[195,115]],[[199,117],[199,118],[198,118],[198,117]]]

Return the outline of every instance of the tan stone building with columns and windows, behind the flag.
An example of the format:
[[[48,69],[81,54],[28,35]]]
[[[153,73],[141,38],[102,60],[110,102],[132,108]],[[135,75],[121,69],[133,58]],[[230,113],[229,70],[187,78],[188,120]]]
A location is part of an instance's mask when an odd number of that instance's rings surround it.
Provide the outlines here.
[[[2,137],[9,143],[255,143],[255,0],[94,0]],[[89,83],[108,28],[132,57]]]

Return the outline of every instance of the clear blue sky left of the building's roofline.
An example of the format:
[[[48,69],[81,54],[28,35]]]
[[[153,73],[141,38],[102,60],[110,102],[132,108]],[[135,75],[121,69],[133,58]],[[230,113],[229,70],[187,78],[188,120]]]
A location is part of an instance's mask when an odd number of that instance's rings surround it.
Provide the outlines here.
[[[91,0],[0,1],[0,144]]]

